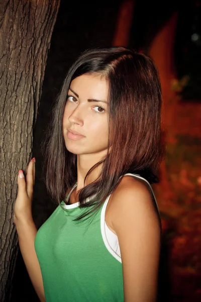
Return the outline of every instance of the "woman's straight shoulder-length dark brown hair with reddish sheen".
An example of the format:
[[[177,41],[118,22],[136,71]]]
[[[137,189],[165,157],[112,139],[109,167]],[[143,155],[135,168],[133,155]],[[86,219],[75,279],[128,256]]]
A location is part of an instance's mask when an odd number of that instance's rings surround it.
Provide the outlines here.
[[[164,156],[161,86],[153,61],[125,47],[86,50],[68,71],[44,143],[45,182],[52,198],[60,204],[67,189],[77,181],[77,156],[65,147],[62,118],[71,81],[85,73],[103,74],[109,83],[109,145],[112,148],[104,160],[87,172],[86,177],[103,164],[98,179],[79,191],[79,206],[87,207],[88,211],[75,220],[86,219],[98,210],[125,173],[139,174],[150,183],[158,182],[159,164]],[[88,197],[90,201],[85,203]]]

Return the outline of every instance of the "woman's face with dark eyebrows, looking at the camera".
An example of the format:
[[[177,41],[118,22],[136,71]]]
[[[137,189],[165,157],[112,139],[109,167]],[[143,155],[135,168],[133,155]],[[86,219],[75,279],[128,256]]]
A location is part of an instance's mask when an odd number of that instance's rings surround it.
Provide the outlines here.
[[[69,152],[97,157],[107,154],[108,92],[108,83],[100,74],[83,74],[71,82],[63,115],[63,135]]]

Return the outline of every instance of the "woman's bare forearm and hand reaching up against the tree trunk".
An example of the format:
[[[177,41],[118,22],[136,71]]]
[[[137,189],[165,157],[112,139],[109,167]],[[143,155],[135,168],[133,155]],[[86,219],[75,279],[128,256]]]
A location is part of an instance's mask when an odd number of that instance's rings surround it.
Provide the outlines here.
[[[22,178],[20,178],[20,175]],[[41,302],[45,302],[43,279],[39,261],[36,255],[34,241],[37,233],[36,225],[32,218],[32,197],[35,179],[35,163],[29,163],[26,175],[18,176],[18,196],[14,207],[14,222],[19,238],[19,246],[28,274]]]

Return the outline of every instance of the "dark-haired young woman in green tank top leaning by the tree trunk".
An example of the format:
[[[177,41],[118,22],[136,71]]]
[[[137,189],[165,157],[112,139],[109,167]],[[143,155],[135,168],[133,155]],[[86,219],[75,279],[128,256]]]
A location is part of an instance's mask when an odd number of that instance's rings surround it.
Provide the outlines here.
[[[160,109],[157,69],[143,54],[87,50],[69,69],[46,146],[59,205],[38,232],[35,159],[26,181],[18,177],[14,218],[41,301],[156,300],[161,225],[150,184],[164,155]]]

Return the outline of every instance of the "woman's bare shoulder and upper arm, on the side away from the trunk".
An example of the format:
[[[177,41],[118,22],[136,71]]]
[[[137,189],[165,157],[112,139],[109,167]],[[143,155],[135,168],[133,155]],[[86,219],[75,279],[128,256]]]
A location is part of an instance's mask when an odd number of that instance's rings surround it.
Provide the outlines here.
[[[124,301],[155,302],[160,223],[147,187],[126,177],[113,197],[112,224],[122,257]]]

